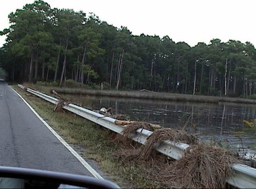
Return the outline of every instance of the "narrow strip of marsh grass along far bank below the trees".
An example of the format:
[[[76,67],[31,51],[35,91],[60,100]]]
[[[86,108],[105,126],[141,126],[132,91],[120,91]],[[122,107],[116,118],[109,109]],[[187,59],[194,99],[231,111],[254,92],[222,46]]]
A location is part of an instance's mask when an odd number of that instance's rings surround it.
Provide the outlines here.
[[[177,93],[149,93],[145,91],[116,91],[116,90],[92,90],[83,88],[66,88],[66,87],[47,87],[39,86],[30,83],[24,83],[25,86],[31,87],[44,92],[49,92],[54,89],[62,94],[76,94],[76,95],[99,95],[111,97],[126,97],[126,98],[144,98],[168,101],[182,101],[182,102],[234,102],[234,103],[251,103],[256,104],[256,100],[245,98],[230,98],[230,97],[216,97],[216,96],[203,96],[203,95],[186,95]]]

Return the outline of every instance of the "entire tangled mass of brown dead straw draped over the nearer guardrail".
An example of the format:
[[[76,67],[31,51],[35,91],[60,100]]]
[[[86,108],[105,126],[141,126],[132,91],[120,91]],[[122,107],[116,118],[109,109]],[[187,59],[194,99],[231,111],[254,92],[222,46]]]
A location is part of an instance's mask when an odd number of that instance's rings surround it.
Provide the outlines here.
[[[123,137],[127,138],[139,128],[150,130],[148,126],[141,122],[133,123],[125,128]],[[153,148],[165,140],[184,142],[190,146],[184,151],[183,158],[174,161]],[[236,154],[228,149],[216,143],[204,144],[196,136],[174,129],[155,130],[145,145],[136,148],[131,145],[117,155],[124,162],[132,161],[145,167],[152,162],[144,170],[147,177],[168,188],[225,188],[226,179],[233,174],[230,165],[238,162]]]

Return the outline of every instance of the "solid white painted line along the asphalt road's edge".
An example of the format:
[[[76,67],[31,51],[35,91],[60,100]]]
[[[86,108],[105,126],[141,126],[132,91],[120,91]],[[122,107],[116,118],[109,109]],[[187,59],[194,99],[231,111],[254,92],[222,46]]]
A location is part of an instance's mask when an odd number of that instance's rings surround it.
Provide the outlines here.
[[[25,102],[25,104],[32,110],[32,112],[33,112],[34,114],[36,114],[36,116],[41,120],[41,122],[43,122],[44,125],[52,132],[52,134],[54,134],[54,136],[55,136],[55,137],[56,137],[56,138],[57,138],[57,139],[58,139],[58,140],[59,140],[59,141],[60,141],[77,159],[78,159],[78,161],[81,162],[82,165],[84,165],[84,167],[85,167],[94,177],[100,178],[100,179],[104,179],[103,177],[100,176],[100,174],[99,174],[98,172],[96,172],[96,170],[94,170],[94,169],[91,167],[91,165],[89,165],[89,164],[87,163],[87,161],[84,160],[84,158],[82,158],[79,154],[77,154],[77,152],[76,152],[74,149],[72,149],[72,147],[69,146],[68,143],[67,143],[66,141],[64,141],[64,139],[61,138],[60,135],[57,134],[57,133],[55,132],[55,130],[53,130],[52,127],[49,126],[48,123],[45,122],[44,119],[40,117],[39,114],[37,114],[36,110],[34,110],[34,109],[28,104],[28,102],[27,102],[22,96],[20,96],[19,93],[17,93],[12,87],[11,87],[11,89]]]

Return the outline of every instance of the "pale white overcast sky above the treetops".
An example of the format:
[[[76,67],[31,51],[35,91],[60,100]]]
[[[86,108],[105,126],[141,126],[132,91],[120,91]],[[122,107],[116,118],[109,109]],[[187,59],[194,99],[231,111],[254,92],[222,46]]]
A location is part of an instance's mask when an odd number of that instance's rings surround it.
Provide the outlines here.
[[[213,38],[249,41],[256,45],[256,0],[45,0],[52,8],[94,12],[100,20],[133,35],[168,35],[190,46]],[[33,0],[7,0],[0,6],[0,30],[8,14]],[[0,47],[5,37],[0,36]]]

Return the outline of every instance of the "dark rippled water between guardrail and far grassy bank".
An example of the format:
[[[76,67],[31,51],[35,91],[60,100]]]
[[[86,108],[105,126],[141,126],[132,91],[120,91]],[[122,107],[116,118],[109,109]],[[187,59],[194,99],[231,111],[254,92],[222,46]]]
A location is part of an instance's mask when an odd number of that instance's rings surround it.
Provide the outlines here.
[[[215,140],[236,149],[247,158],[256,154],[256,133],[244,132],[246,126],[243,124],[243,120],[252,121],[256,118],[256,105],[82,95],[72,95],[69,98],[91,110],[112,107],[113,113],[128,114],[134,121],[147,121],[167,128],[185,128],[188,133],[197,134],[203,141]]]

